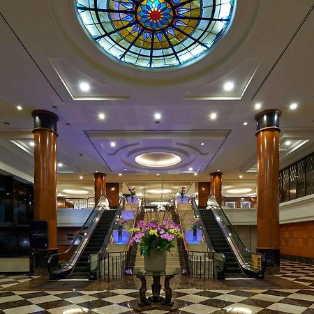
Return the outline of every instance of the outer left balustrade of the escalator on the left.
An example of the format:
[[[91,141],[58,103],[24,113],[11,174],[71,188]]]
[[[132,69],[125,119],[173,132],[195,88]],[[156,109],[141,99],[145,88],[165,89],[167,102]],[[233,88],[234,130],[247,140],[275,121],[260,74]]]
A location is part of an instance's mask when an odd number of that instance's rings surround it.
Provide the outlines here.
[[[68,276],[71,274],[71,272],[74,269],[75,263],[77,262],[78,258],[80,257],[82,251],[84,251],[85,246],[87,245],[87,242],[89,240],[89,237],[91,237],[91,234],[93,234],[94,229],[97,225],[98,219],[103,214],[103,211],[109,210],[109,200],[107,196],[103,196],[100,198],[97,206],[91,211],[91,214],[89,214],[89,217],[85,221],[84,225],[81,227],[80,232],[77,233],[75,239],[73,239],[72,244],[69,246],[69,248],[64,251],[63,253],[58,253],[51,255],[48,259],[48,271],[50,273],[50,278],[59,278],[61,274],[64,273],[64,276]],[[78,245],[76,248],[75,253],[70,257],[70,260],[66,263],[62,269],[58,270],[52,270],[50,267],[52,264],[58,264],[58,262],[54,262],[54,259],[59,260],[59,257],[61,255],[65,255],[66,253],[70,252],[73,249],[74,245]],[[63,275],[62,275],[63,276]]]

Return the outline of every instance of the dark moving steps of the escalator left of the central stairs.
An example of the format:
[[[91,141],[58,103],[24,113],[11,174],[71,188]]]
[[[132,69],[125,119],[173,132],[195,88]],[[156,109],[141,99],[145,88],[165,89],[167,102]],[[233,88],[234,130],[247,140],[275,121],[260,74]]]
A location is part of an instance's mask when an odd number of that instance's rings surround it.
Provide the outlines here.
[[[100,251],[115,213],[116,211],[114,210],[104,211],[103,216],[100,217],[100,220],[98,221],[98,224],[96,225],[96,228],[91,235],[87,246],[84,248],[84,251],[82,252],[79,260],[75,264],[73,273],[69,278],[88,278],[89,271],[87,268],[87,262],[89,255]]]

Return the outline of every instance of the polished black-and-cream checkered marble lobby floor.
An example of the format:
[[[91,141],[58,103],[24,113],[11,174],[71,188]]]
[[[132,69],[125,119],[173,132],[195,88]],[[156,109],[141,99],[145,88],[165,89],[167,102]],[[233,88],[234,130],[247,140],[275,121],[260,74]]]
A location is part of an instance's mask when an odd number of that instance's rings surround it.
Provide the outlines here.
[[[75,281],[56,284],[34,276],[0,276],[0,313],[136,313],[130,308],[140,287],[134,276],[110,283],[80,282],[80,289],[77,287]],[[314,314],[314,266],[310,264],[282,261],[281,274],[258,281],[176,276],[171,287],[179,307],[172,313]]]

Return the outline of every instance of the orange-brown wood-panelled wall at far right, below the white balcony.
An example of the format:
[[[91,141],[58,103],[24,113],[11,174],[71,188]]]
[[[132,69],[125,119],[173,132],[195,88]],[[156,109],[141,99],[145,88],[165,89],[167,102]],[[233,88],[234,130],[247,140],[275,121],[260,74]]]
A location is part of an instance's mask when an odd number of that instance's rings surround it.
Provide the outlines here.
[[[280,226],[281,254],[314,258],[314,221]]]

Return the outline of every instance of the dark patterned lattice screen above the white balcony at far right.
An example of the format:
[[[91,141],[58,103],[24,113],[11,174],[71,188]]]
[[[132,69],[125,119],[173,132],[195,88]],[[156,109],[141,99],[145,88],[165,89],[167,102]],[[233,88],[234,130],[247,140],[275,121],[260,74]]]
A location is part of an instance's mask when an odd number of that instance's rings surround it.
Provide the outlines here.
[[[280,202],[314,194],[314,153],[279,172]]]

